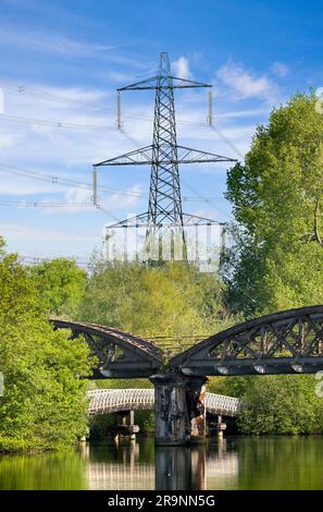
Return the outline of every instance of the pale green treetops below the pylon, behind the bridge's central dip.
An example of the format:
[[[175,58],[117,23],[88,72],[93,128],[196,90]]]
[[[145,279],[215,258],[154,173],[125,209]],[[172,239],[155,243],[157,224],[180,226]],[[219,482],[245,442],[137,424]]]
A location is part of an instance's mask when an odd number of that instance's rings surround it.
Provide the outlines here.
[[[98,261],[79,318],[147,337],[213,333],[232,321],[222,296],[223,284],[215,276],[183,264]]]

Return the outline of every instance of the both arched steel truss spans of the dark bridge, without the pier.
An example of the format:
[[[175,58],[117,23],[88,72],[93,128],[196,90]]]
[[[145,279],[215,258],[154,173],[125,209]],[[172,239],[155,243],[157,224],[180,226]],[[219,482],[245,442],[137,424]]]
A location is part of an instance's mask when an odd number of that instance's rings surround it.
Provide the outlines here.
[[[95,378],[150,377],[163,365],[149,340],[96,324],[52,320],[83,334],[99,358]],[[314,374],[323,370],[323,305],[275,313],[211,336],[170,361],[187,376]]]

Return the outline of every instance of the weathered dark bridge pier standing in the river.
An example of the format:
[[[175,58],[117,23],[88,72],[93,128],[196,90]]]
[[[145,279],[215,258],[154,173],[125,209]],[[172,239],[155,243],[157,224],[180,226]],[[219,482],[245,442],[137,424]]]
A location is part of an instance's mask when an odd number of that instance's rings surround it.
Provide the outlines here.
[[[154,386],[154,440],[160,446],[178,446],[206,440],[204,377],[160,374]]]

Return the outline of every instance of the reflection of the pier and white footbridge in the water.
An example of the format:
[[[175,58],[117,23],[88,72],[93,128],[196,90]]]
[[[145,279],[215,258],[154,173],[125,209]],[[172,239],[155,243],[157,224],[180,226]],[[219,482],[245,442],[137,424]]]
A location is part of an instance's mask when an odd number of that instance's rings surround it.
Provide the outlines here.
[[[146,452],[145,463],[145,453],[140,458],[144,447],[141,442],[110,446],[102,459],[96,454],[96,447],[83,444],[80,453],[87,461],[88,488],[219,490],[236,486],[238,454],[232,447],[227,450],[225,439],[208,447],[157,447],[150,456]]]

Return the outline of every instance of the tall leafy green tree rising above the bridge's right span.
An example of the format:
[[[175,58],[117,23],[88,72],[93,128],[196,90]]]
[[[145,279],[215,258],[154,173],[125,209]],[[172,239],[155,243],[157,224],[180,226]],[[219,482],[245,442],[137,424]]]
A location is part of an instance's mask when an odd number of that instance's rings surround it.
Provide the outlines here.
[[[323,302],[323,115],[314,103],[297,95],[275,109],[245,164],[228,172],[239,229],[224,265],[227,300],[247,317]]]

